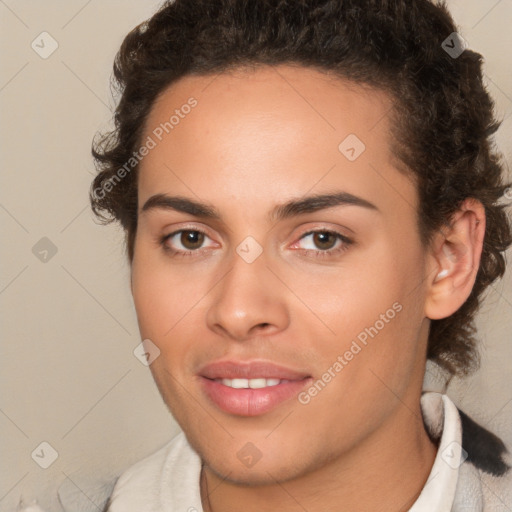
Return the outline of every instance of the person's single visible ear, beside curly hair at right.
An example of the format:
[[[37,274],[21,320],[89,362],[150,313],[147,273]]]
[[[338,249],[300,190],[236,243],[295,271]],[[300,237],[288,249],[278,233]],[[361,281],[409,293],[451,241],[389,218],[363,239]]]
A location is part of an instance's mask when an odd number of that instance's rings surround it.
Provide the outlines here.
[[[446,318],[466,302],[480,266],[484,235],[485,208],[472,198],[435,235],[428,257],[427,318]]]

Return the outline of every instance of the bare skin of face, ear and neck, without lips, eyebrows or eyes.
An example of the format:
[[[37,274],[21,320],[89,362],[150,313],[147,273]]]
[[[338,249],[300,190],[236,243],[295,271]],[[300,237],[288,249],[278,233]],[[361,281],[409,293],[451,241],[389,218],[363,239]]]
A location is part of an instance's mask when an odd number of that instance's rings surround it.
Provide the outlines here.
[[[191,96],[198,105],[140,164],[132,292],[141,335],[160,349],[156,384],[205,464],[204,509],[407,510],[436,455],[420,410],[429,317],[451,314],[471,291],[482,208],[464,203],[422,245],[384,92],[289,65],[185,77],[155,102],[143,139]],[[349,134],[366,146],[353,162],[338,149]],[[333,191],[375,209],[268,218],[278,204]],[[207,203],[220,219],[143,211],[155,194]],[[180,229],[205,232],[203,244],[162,244]],[[304,236],[312,229],[352,243]],[[252,263],[236,252],[247,236],[262,249]],[[243,417],[201,390],[198,370],[220,358],[273,361],[316,381],[396,303],[401,311],[306,405],[293,398]],[[261,453],[252,467],[237,457],[248,442]]]

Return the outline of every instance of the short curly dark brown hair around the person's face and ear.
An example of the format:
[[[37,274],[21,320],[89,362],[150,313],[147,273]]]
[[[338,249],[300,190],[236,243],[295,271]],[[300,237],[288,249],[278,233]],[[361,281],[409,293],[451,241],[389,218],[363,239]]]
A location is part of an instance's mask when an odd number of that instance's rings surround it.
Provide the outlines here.
[[[113,83],[121,97],[114,129],[93,142],[92,209],[103,222],[123,226],[131,262],[133,155],[155,99],[186,75],[293,63],[383,90],[394,100],[393,151],[417,183],[423,243],[449,224],[464,199],[485,207],[472,293],[456,313],[432,321],[429,333],[428,358],[467,374],[479,359],[474,316],[484,290],[504,274],[512,233],[500,201],[507,185],[491,138],[499,123],[483,85],[483,59],[443,48],[446,40],[455,46],[456,30],[446,5],[429,0],[167,1],[125,37],[116,56]]]

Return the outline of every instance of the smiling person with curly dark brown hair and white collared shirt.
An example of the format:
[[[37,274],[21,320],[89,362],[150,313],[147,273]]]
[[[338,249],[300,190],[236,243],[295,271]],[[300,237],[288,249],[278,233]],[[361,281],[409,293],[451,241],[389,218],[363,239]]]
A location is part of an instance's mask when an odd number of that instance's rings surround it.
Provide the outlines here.
[[[428,0],[176,0],[126,36],[91,201],[183,433],[108,511],[512,506],[503,443],[422,393],[477,366],[511,243],[481,62]]]

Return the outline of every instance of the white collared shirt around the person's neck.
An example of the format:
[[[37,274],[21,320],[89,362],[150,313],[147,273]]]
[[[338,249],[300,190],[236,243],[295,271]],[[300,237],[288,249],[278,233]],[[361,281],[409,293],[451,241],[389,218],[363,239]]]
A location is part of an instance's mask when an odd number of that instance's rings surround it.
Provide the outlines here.
[[[428,431],[440,440],[428,480],[409,511],[512,510],[511,503],[506,503],[510,494],[493,492],[493,477],[483,477],[465,461],[459,412],[448,396],[426,392],[421,409]],[[181,433],[119,477],[108,512],[203,512],[200,472],[201,460]]]

